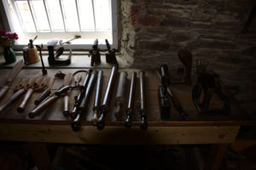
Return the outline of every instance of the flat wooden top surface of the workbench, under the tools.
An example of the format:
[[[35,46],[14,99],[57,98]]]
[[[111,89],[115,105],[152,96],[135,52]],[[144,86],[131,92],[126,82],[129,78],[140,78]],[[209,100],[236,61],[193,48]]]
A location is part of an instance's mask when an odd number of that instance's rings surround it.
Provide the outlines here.
[[[48,74],[44,77],[51,77],[52,79],[55,77],[55,73],[57,71],[61,71],[63,73],[78,71],[79,69],[48,69]],[[88,70],[88,69],[84,69]],[[111,69],[102,69],[103,70],[103,85],[102,85],[102,95],[101,98],[103,99],[105,90],[107,88],[108,77],[110,74]],[[4,81],[9,74],[10,69],[1,69],[0,71],[0,78],[1,82],[0,85],[3,85]],[[137,71],[137,75],[139,70],[131,70],[131,69],[119,69],[120,71],[127,71],[128,73],[128,82],[126,83],[126,93],[125,98],[126,101],[128,100],[129,89],[130,89],[130,80],[131,80],[131,72]],[[83,75],[83,79],[85,74]],[[9,92],[5,97],[1,100],[0,104],[3,104],[10,95],[13,94],[13,89],[17,82],[19,82],[20,78],[32,78],[32,77],[43,77],[41,69],[22,69],[18,77],[16,77],[15,81],[12,83]],[[118,75],[119,77],[119,75]],[[81,82],[83,82],[82,80]],[[125,126],[125,111],[123,117],[120,120],[116,120],[115,116],[113,116],[113,111],[115,111],[114,107],[114,100],[116,94],[116,87],[118,83],[118,78],[115,81],[115,90],[112,95],[112,102],[110,111],[108,112],[108,116],[106,117],[106,125],[114,125],[114,126]],[[52,91],[59,88],[63,83],[62,79],[55,79],[55,82],[51,88]],[[73,83],[73,82],[72,82]],[[138,87],[139,79],[137,76],[137,94],[136,94],[136,101],[138,101],[139,97],[139,87]],[[195,105],[192,101],[192,93],[191,90],[193,86],[188,86],[186,84],[178,84],[172,85],[171,88],[173,92],[177,95],[177,98],[183,105],[183,110],[186,111],[189,115],[189,122],[184,122],[179,116],[178,112],[176,111],[175,107],[172,105],[171,111],[171,119],[170,120],[161,120],[160,119],[160,110],[159,110],[159,103],[158,103],[158,85],[160,83],[159,78],[155,74],[155,71],[145,71],[145,88],[146,88],[146,106],[147,106],[147,115],[148,115],[148,126],[208,126],[208,125],[241,125],[247,124],[248,118],[246,112],[241,108],[241,106],[236,102],[236,99],[231,97],[231,114],[230,116],[202,116],[196,111]],[[96,88],[96,85],[95,85]],[[94,89],[95,92],[95,89]],[[82,122],[83,125],[91,125],[91,117],[92,117],[92,106],[94,101],[95,93],[90,95],[90,102],[87,108],[86,113],[84,114],[84,121]],[[69,110],[72,111],[74,105],[74,96],[79,94],[79,90],[70,90],[67,93],[70,97],[70,105]],[[34,108],[33,102],[35,99],[38,98],[40,93],[32,94],[32,98],[29,99],[29,102],[26,106],[26,110],[23,113],[18,113],[16,108],[20,105],[21,97],[15,104],[9,106],[6,111],[3,111],[0,114],[0,122],[25,122],[25,123],[35,123],[35,124],[70,124],[71,119],[70,117],[65,117],[62,115],[63,111],[63,98],[58,98],[55,103],[49,106],[48,109],[40,113],[39,116],[34,118],[28,117],[28,112],[32,111]],[[125,106],[127,102],[125,102]],[[214,104],[213,104],[214,105]],[[218,105],[218,104],[216,104]],[[133,117],[133,126],[138,126],[140,123],[140,114],[138,108],[135,110],[135,115]]]

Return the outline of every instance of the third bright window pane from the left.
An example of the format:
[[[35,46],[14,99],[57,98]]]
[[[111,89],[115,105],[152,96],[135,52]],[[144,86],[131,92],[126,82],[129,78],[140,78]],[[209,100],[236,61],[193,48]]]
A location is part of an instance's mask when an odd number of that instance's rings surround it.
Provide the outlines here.
[[[65,31],[61,14],[60,1],[48,0],[45,1],[45,3],[49,11],[49,21],[52,31]]]

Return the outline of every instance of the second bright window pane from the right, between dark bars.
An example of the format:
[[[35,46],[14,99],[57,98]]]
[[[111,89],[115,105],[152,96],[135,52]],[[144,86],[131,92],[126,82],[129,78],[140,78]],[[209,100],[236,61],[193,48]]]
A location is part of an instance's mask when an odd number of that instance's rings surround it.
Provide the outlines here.
[[[82,31],[94,31],[94,20],[91,0],[79,0],[79,18]]]

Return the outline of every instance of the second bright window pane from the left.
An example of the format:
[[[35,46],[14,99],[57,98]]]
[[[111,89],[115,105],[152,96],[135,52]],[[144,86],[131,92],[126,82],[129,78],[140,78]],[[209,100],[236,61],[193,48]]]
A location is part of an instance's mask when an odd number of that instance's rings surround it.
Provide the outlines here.
[[[31,1],[31,6],[38,25],[38,31],[50,31],[48,18],[44,8],[44,2],[42,0]]]

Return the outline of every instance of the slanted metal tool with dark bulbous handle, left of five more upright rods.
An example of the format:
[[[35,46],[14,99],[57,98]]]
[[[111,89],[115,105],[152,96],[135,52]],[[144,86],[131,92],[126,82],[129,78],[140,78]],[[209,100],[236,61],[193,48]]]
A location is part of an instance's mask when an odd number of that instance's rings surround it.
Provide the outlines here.
[[[84,112],[87,109],[88,101],[90,99],[90,94],[91,94],[95,80],[96,80],[96,71],[93,71],[90,75],[90,80],[85,89],[84,97],[81,100],[81,103],[79,105],[78,114],[75,116],[75,118],[73,119],[72,124],[71,124],[71,127],[72,127],[73,131],[75,131],[75,132],[79,131],[79,129],[81,128],[81,121],[84,117]]]

